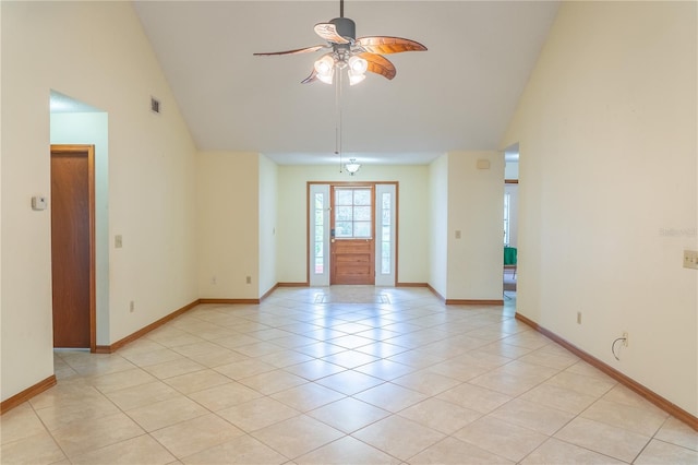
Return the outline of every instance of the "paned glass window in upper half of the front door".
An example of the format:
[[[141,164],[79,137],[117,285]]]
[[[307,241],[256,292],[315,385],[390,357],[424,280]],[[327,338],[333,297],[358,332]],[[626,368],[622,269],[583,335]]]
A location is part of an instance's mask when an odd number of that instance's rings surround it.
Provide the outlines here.
[[[335,189],[335,237],[339,239],[370,239],[373,237],[371,204],[368,188]]]

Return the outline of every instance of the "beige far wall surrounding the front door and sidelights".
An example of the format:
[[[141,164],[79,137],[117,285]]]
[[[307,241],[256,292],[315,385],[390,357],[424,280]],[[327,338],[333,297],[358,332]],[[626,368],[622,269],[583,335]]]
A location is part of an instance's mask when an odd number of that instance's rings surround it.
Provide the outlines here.
[[[429,225],[429,168],[426,166],[366,165],[354,176],[337,166],[278,167],[278,281],[305,283],[308,267],[309,181],[397,181],[398,191],[398,282],[426,283]]]

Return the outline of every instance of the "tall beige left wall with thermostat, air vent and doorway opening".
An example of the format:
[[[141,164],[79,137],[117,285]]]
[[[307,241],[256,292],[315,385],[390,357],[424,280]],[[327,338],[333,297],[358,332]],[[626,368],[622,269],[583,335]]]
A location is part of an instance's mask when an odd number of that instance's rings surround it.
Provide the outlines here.
[[[50,193],[50,90],[109,115],[109,236],[123,235],[109,257],[109,342],[198,296],[194,145],[131,4],[2,2],[1,21],[7,400],[53,373],[50,210],[29,206]]]

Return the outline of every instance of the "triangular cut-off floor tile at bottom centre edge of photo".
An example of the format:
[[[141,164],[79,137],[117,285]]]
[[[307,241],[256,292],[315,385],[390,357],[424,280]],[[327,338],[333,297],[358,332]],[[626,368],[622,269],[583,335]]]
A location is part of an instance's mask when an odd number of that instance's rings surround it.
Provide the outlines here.
[[[293,461],[299,465],[398,465],[399,458],[351,437],[344,437]]]

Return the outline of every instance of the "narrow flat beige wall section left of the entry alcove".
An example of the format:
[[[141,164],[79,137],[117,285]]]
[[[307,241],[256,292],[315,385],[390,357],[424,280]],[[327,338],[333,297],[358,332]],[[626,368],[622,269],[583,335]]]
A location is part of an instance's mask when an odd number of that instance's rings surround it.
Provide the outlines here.
[[[260,157],[252,152],[198,154],[202,298],[260,297]]]

